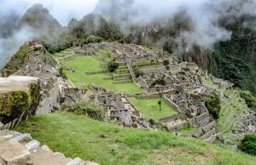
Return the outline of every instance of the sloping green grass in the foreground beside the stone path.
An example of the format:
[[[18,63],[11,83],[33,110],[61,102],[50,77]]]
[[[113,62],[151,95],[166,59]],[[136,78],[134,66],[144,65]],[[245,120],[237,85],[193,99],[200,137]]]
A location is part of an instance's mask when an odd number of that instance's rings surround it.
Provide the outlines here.
[[[66,112],[32,117],[15,130],[32,134],[43,145],[49,145],[65,156],[79,156],[102,165],[253,165],[256,162],[256,157],[227,151],[200,140],[136,128],[120,128],[115,124]]]

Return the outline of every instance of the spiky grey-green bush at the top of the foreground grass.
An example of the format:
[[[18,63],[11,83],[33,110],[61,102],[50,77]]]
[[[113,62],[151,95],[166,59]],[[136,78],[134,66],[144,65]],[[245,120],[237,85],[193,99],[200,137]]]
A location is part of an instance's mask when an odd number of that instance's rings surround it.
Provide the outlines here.
[[[84,114],[96,120],[104,120],[105,110],[102,106],[91,101],[79,101],[75,105],[65,108],[67,111]]]

